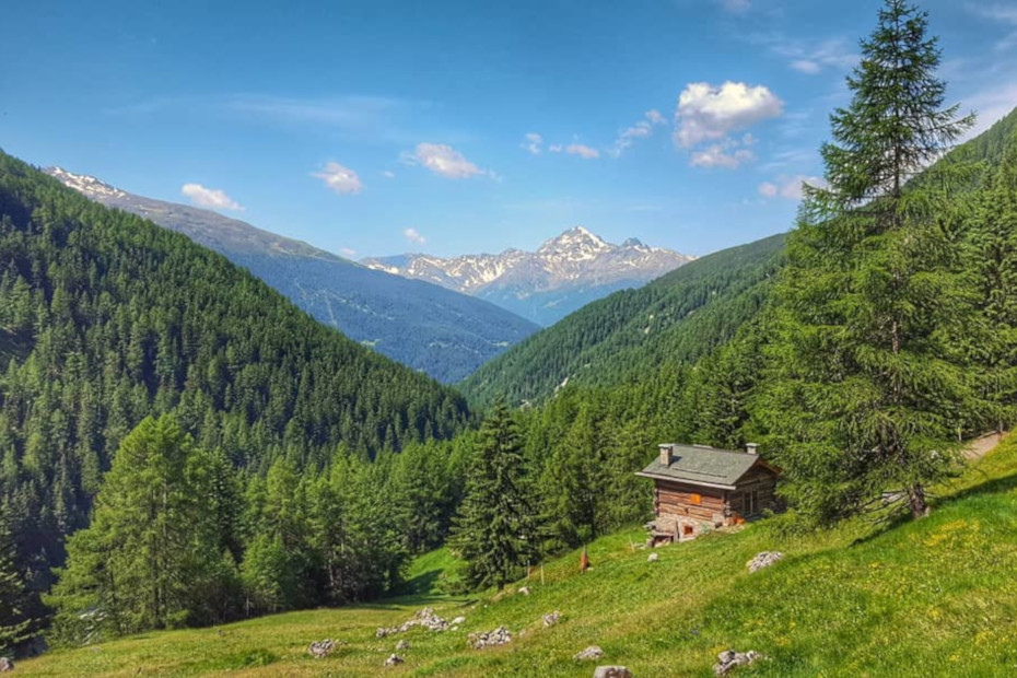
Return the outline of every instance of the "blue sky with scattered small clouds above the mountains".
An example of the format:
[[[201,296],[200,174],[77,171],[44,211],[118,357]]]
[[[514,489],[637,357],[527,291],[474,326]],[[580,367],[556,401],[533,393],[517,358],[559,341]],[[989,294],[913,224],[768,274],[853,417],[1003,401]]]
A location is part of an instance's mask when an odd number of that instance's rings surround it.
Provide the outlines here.
[[[4,4],[0,148],[359,258],[784,231],[880,2]],[[1017,106],[1017,2],[921,4]]]

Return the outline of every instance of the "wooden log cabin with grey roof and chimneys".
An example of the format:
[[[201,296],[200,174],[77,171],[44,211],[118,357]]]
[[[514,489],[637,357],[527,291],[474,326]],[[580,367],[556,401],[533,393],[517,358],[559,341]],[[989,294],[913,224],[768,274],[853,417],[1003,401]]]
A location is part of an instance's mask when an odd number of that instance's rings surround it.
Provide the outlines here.
[[[767,464],[755,444],[745,452],[673,443],[659,448],[636,474],[654,481],[653,546],[694,539],[781,508],[774,493],[780,469]]]

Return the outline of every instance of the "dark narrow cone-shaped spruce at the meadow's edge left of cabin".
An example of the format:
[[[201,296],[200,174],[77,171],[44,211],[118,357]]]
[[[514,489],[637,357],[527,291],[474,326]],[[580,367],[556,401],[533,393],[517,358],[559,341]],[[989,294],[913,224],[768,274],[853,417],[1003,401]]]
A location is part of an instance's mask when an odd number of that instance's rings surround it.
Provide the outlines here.
[[[478,436],[451,546],[472,588],[504,586],[536,557],[536,521],[515,419],[499,400]]]

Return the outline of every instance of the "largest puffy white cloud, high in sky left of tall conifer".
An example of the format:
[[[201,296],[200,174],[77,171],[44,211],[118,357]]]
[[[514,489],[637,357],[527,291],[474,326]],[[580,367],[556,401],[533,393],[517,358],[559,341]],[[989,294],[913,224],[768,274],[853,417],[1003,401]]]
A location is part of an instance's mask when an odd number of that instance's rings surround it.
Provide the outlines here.
[[[729,132],[778,117],[783,107],[783,102],[763,85],[693,82],[678,97],[675,143],[691,148],[703,141],[723,139]]]

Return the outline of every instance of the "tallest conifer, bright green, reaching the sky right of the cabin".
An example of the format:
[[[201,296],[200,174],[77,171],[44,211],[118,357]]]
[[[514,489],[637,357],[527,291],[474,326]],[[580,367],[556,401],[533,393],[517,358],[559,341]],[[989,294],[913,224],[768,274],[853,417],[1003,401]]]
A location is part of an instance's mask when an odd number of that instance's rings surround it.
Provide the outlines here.
[[[887,0],[862,40],[821,149],[828,186],[805,187],[776,291],[761,419],[783,492],[821,522],[884,503],[925,515],[971,395],[956,342],[971,312],[962,247],[940,217],[965,172],[926,166],[972,118],[944,107],[926,32],[924,12]]]

